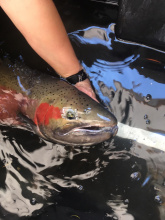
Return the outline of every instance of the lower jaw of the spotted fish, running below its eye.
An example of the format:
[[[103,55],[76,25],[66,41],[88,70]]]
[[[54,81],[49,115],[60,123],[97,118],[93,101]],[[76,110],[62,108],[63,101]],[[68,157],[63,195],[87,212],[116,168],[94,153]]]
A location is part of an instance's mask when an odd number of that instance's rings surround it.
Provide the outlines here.
[[[38,128],[39,134],[46,140],[71,146],[90,146],[101,143],[116,135],[118,126],[99,127],[99,126],[78,126],[73,129],[48,129],[45,126]]]

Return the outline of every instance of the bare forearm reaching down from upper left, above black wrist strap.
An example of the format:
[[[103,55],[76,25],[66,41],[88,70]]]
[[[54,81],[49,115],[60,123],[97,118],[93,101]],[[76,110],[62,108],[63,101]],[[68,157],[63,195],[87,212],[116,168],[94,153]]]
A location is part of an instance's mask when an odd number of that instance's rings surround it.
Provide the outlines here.
[[[82,67],[52,0],[0,0],[31,47],[63,77]]]

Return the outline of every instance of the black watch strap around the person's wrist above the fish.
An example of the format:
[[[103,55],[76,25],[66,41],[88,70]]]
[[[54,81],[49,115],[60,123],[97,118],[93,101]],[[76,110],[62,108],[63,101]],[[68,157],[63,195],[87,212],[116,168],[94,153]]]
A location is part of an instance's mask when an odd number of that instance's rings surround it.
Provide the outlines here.
[[[82,69],[78,73],[76,73],[76,74],[74,74],[72,76],[67,77],[66,80],[70,84],[75,85],[76,83],[82,82],[82,81],[84,81],[87,78],[88,78],[88,76],[87,76],[86,72]]]

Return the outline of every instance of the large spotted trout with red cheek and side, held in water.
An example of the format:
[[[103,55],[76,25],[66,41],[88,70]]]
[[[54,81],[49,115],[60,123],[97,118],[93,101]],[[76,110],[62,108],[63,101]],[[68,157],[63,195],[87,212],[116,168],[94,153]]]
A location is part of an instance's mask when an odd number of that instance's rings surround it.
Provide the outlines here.
[[[115,116],[67,82],[0,60],[0,122],[29,126],[42,138],[92,145],[117,132]]]

